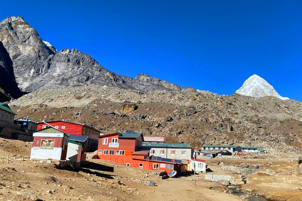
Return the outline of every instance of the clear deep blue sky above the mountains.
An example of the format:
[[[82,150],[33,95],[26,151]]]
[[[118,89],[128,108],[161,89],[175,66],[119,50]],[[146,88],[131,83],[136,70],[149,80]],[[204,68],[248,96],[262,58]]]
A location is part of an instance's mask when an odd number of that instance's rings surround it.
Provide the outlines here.
[[[1,1],[56,49],[117,74],[233,94],[251,75],[302,101],[302,1]]]

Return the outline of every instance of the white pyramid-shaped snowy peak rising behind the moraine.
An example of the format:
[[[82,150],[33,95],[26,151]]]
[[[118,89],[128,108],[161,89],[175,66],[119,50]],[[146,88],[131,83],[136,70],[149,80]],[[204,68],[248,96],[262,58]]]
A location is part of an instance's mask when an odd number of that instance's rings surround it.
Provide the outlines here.
[[[236,93],[252,97],[275,96],[281,100],[289,99],[280,96],[273,86],[258,75],[249,77]]]

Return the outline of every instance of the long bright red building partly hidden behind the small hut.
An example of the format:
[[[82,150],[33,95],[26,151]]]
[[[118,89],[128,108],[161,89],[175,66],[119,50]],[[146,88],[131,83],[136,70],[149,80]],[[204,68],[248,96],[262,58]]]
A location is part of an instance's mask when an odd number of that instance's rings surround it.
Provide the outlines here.
[[[98,136],[103,134],[101,131],[90,126],[69,121],[47,121],[46,123],[64,133],[88,137],[83,147],[84,152],[94,152],[98,148]],[[37,123],[37,130],[49,127],[47,124],[43,122]]]

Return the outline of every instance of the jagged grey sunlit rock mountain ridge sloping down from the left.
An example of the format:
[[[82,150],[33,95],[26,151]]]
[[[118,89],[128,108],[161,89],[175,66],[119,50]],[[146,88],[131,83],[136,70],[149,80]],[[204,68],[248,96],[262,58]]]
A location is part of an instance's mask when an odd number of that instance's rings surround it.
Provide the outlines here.
[[[0,41],[13,61],[18,86],[25,92],[87,84],[117,86],[142,92],[184,90],[181,86],[157,78],[143,80],[115,74],[77,49],[57,52],[20,16],[2,20]]]

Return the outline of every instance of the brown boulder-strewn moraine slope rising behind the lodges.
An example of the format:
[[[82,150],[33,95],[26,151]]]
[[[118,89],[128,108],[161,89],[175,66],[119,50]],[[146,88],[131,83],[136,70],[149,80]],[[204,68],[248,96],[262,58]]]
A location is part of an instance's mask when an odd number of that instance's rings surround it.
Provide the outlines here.
[[[104,133],[136,130],[167,142],[263,146],[301,152],[302,103],[265,96],[220,96],[206,91],[141,93],[99,85],[32,92],[14,111],[36,121],[65,119]]]

